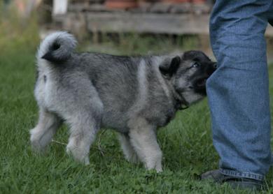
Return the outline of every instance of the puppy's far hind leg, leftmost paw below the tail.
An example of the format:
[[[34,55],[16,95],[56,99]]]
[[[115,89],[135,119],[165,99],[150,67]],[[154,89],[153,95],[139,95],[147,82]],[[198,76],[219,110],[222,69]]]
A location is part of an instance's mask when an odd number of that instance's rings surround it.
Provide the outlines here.
[[[32,149],[34,151],[43,151],[51,142],[60,124],[59,117],[54,113],[41,109],[37,126],[30,130]]]

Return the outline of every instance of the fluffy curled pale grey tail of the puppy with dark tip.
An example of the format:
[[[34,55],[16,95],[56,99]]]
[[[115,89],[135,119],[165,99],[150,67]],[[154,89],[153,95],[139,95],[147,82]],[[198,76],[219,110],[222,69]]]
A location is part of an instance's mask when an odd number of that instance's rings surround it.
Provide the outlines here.
[[[77,40],[66,31],[57,31],[46,36],[37,52],[37,59],[50,62],[62,62],[69,59],[77,45]]]

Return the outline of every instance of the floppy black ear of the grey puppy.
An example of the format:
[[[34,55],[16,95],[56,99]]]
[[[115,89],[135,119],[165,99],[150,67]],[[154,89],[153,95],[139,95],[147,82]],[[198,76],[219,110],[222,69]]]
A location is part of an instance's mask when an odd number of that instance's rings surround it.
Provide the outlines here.
[[[159,66],[160,72],[166,77],[172,77],[172,75],[174,75],[174,73],[176,73],[176,70],[179,68],[180,62],[181,58],[178,56],[172,58],[171,60],[166,59]]]

